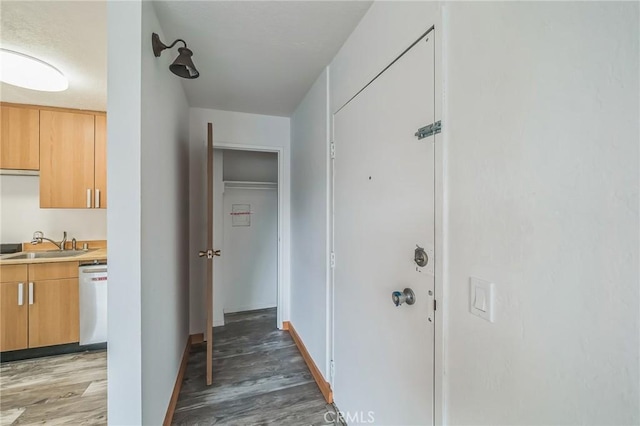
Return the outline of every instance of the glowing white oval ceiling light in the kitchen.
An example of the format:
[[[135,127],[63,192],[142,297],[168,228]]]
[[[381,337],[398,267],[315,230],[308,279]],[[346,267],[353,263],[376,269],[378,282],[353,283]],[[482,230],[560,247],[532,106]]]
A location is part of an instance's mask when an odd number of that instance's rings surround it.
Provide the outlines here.
[[[69,81],[52,65],[13,50],[0,48],[0,81],[42,92],[67,90]]]

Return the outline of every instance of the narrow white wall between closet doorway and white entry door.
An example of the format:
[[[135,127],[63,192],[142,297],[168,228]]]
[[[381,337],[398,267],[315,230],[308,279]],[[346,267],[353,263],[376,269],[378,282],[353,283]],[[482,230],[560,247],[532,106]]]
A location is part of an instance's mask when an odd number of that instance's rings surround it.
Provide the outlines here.
[[[328,84],[325,70],[291,117],[291,323],[327,380]]]

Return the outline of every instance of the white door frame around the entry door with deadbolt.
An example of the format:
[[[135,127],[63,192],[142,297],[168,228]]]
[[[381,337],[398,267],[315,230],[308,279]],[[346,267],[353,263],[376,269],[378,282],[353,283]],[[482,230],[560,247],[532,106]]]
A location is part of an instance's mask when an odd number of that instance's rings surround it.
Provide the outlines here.
[[[441,133],[434,135],[434,254],[435,254],[435,266],[434,266],[434,283],[435,283],[435,299],[437,300],[437,309],[434,312],[434,359],[433,359],[433,424],[441,425],[447,424],[446,418],[446,400],[445,400],[445,371],[446,371],[446,346],[445,341],[447,337],[447,314],[448,314],[448,291],[445,283],[448,280],[447,271],[447,248],[448,240],[447,233],[445,232],[446,225],[446,212],[448,210],[448,203],[446,198],[446,173],[447,173],[447,144],[449,142],[448,132],[446,131],[444,116],[444,106],[446,105],[446,98],[443,92],[443,73],[442,73],[442,39],[443,34],[443,11],[436,16],[436,22],[427,28],[416,42],[424,38],[425,36],[433,36],[434,38],[434,122],[442,121],[443,127]],[[387,68],[391,67],[393,63],[403,56],[413,45],[398,52],[398,55],[394,57],[388,65],[386,65],[371,81],[368,81],[364,86],[354,92],[354,95],[349,98],[343,105],[338,107],[335,111],[329,112],[329,140],[327,146],[328,152],[328,213],[329,220],[327,224],[327,236],[328,252],[329,254],[335,252],[335,197],[334,197],[334,185],[335,185],[335,167],[334,159],[331,158],[330,149],[331,144],[335,142],[335,126],[334,118],[340,110],[348,104],[351,100],[357,97],[360,92],[366,89],[366,87],[373,83],[378,76],[380,76]],[[331,94],[328,93],[328,97]],[[327,102],[330,105],[330,102]],[[425,123],[429,124],[429,123]],[[335,360],[335,275],[334,269],[329,267],[328,279],[327,279],[327,318],[329,318],[329,327],[327,333],[327,371],[333,371]],[[339,325],[338,325],[339,326]],[[330,374],[329,383],[334,388],[334,375]]]

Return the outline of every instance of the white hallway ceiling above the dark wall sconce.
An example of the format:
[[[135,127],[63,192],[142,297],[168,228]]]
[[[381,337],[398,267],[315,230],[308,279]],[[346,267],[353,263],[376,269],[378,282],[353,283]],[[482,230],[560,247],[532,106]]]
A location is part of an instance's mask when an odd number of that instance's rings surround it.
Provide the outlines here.
[[[161,1],[167,40],[184,39],[200,71],[191,106],[290,116],[370,1]],[[163,53],[164,55],[167,52]],[[175,48],[169,54],[177,56]]]

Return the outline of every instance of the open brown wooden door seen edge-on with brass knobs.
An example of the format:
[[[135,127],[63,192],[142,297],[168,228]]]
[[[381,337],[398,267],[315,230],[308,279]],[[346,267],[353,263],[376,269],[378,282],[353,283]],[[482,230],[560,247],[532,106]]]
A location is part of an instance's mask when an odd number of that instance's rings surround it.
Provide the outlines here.
[[[198,256],[207,259],[207,385],[213,383],[213,257],[220,256],[220,250],[213,250],[213,124],[207,126],[207,250]]]

